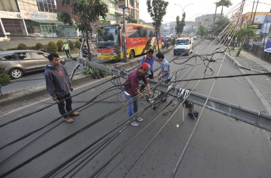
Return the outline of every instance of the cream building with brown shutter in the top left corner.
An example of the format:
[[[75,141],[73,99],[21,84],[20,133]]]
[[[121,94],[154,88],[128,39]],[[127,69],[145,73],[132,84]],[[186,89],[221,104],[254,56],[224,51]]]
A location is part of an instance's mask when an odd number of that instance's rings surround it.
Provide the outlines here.
[[[6,35],[28,36],[24,13],[16,0],[0,0],[0,41],[8,40]]]

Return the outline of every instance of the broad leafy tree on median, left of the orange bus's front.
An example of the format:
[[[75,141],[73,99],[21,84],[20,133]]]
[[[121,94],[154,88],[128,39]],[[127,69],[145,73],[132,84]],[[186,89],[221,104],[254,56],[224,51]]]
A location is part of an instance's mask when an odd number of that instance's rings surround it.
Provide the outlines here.
[[[79,18],[79,22],[75,24],[76,30],[79,30],[82,34],[86,34],[88,54],[90,55],[88,39],[89,36],[92,35],[93,30],[90,23],[95,23],[99,20],[99,17],[101,19],[106,19],[108,13],[107,5],[100,0],[62,0],[61,5],[63,7],[71,7],[72,14]],[[61,12],[58,13],[58,19],[65,25],[73,25],[70,15],[64,10],[61,10]],[[89,59],[91,59],[90,56]]]

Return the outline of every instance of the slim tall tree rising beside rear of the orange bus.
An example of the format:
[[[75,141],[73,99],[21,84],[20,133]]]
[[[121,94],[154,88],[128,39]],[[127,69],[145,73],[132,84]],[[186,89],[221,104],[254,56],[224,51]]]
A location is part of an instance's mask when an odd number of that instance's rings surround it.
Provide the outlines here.
[[[163,17],[167,14],[169,2],[164,0],[147,0],[148,13],[153,20],[153,26],[156,31],[156,40],[158,42],[158,33],[161,29]],[[159,45],[158,51],[160,52]]]

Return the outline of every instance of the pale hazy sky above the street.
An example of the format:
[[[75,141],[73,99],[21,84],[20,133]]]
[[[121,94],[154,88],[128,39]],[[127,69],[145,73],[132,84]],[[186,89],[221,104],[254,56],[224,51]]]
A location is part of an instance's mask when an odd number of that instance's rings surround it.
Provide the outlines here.
[[[140,19],[144,20],[145,22],[152,22],[152,18],[150,17],[148,11],[147,11],[147,0],[140,0]],[[163,19],[163,23],[166,22],[174,22],[176,21],[176,16],[182,16],[182,8],[184,9],[184,12],[186,13],[186,19],[185,21],[195,21],[196,17],[205,15],[205,14],[214,14],[215,13],[215,0],[190,0],[190,1],[183,1],[183,0],[165,0],[169,2],[169,6],[167,7],[167,14]],[[217,0],[218,1],[218,0]],[[241,0],[231,0],[232,6],[229,8],[224,7],[223,13],[226,15],[229,13],[232,8],[235,6],[240,7]],[[253,12],[255,12],[256,8],[256,2],[254,5]],[[265,3],[265,4],[262,4]],[[182,6],[182,8],[178,5]],[[189,5],[193,4],[193,5]],[[266,5],[267,4],[267,5]],[[188,6],[187,6],[188,5]],[[245,14],[247,12],[252,11],[253,6],[253,0],[245,1],[244,10],[242,14]],[[237,8],[236,7],[236,8]],[[234,8],[234,9],[236,9]],[[216,13],[221,13],[221,7],[217,8]],[[271,1],[270,0],[259,0],[257,11],[256,12],[269,12],[271,9]],[[232,15],[232,12],[230,13]]]

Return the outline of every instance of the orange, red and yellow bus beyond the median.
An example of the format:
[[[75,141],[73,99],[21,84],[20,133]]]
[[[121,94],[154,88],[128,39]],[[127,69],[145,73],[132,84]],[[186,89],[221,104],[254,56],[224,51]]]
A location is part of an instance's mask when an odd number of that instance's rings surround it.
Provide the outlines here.
[[[112,24],[98,27],[105,32],[103,35],[97,34],[97,58],[99,60],[112,60],[114,58],[114,46],[117,44],[122,54],[124,43],[123,24]],[[134,56],[147,53],[149,49],[161,49],[162,39],[158,33],[158,43],[156,31],[153,27],[141,24],[125,24],[126,29],[126,58],[132,59]]]

